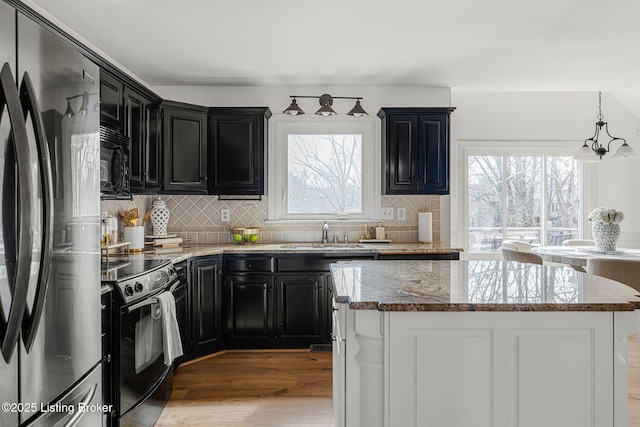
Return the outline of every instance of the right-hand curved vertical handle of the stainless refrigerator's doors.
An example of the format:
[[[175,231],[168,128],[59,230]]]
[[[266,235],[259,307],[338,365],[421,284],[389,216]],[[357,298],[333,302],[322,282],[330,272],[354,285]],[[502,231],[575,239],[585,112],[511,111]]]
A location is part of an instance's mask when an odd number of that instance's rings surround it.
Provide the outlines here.
[[[31,350],[33,341],[38,331],[38,324],[42,317],[44,298],[47,293],[49,283],[49,273],[51,272],[51,261],[53,254],[53,172],[51,169],[51,155],[49,144],[42,123],[40,106],[31,83],[28,72],[24,73],[22,84],[20,85],[20,101],[22,111],[26,120],[31,114],[34,134],[36,136],[36,148],[38,150],[40,167],[40,185],[42,188],[42,250],[40,256],[40,271],[38,272],[37,289],[34,298],[33,308],[29,313],[28,307],[22,319],[22,340],[27,353]]]

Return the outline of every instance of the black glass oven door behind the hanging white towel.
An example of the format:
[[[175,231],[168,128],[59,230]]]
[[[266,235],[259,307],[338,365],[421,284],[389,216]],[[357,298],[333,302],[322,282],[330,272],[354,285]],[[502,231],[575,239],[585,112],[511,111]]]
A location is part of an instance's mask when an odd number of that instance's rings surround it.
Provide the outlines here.
[[[164,363],[160,310],[158,304],[142,303],[120,312],[120,426],[153,426],[171,395],[173,367]]]

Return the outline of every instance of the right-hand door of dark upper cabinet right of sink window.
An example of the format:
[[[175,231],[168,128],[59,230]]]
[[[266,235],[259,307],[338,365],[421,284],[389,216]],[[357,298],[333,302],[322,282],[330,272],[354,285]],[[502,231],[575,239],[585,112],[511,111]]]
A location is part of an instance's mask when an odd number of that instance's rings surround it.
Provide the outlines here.
[[[449,194],[449,115],[419,117],[418,191]]]

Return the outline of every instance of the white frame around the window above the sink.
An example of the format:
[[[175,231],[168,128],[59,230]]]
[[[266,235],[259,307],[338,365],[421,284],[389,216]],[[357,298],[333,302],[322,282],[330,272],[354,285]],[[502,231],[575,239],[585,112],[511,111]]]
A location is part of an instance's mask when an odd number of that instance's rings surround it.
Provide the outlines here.
[[[369,221],[380,217],[381,131],[377,117],[274,116],[269,123],[268,221]],[[290,214],[287,212],[288,138],[290,134],[362,135],[362,213]]]

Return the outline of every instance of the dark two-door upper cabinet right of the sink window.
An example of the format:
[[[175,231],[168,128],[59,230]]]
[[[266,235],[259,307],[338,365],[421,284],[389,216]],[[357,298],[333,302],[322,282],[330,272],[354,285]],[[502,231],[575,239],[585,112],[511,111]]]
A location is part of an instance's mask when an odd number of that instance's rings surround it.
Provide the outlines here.
[[[449,194],[453,107],[382,108],[384,194]]]

